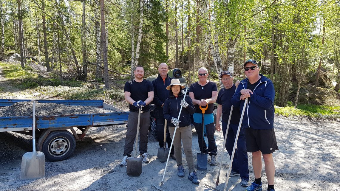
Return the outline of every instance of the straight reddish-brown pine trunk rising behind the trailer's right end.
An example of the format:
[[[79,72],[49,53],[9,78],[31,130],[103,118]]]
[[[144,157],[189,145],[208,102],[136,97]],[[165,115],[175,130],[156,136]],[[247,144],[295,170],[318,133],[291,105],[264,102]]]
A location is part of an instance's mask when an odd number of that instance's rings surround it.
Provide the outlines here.
[[[103,60],[104,60],[104,83],[105,89],[110,88],[110,79],[108,76],[108,63],[107,63],[107,45],[106,45],[106,30],[105,30],[105,4],[104,0],[100,0],[100,21],[101,21],[101,32],[102,32],[102,49],[103,49]]]

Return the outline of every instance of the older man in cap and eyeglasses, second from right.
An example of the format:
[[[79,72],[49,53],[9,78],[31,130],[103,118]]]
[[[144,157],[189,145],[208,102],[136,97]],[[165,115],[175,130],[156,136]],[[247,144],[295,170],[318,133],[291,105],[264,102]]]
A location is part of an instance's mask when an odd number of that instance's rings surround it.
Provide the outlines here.
[[[216,130],[218,132],[221,131],[220,126],[220,118],[222,115],[222,131],[223,137],[225,137],[230,110],[232,107],[231,99],[235,93],[237,86],[240,81],[237,81],[234,85],[233,74],[229,71],[223,71],[220,74],[222,83],[224,88],[218,92],[216,103],[218,103],[217,113],[216,113]],[[230,119],[230,124],[227,132],[227,139],[225,142],[225,149],[229,153],[231,158],[233,153],[233,146],[236,139],[236,133],[238,130],[238,125],[240,122],[240,108],[234,107],[233,112]],[[237,149],[235,150],[232,170],[230,172],[230,176],[240,176],[241,177],[241,186],[248,186],[249,181],[249,170],[248,170],[248,153],[245,146],[245,137],[244,137],[244,127],[241,127],[238,139],[237,139]]]

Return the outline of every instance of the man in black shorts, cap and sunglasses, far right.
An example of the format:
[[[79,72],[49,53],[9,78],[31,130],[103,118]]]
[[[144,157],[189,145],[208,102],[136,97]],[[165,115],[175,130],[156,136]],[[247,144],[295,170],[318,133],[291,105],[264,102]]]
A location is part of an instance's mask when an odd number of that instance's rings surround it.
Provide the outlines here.
[[[247,60],[243,67],[247,78],[238,85],[232,98],[232,104],[234,107],[240,108],[247,104],[242,120],[242,128],[245,128],[247,151],[252,153],[253,156],[255,181],[246,188],[246,191],[262,190],[261,155],[265,161],[268,180],[267,190],[275,191],[275,166],[272,153],[278,150],[278,147],[274,133],[274,85],[266,76],[259,74],[260,69],[256,60]],[[248,103],[244,101],[246,98],[248,98]]]

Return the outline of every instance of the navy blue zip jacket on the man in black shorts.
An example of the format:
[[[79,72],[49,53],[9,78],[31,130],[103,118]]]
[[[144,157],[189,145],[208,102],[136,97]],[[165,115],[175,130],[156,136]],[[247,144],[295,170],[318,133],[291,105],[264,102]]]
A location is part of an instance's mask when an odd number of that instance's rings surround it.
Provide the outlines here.
[[[242,127],[244,128],[274,128],[274,85],[266,76],[263,76],[262,74],[260,74],[260,76],[260,82],[255,86],[253,94],[250,94],[248,104],[245,107],[242,120]],[[242,89],[247,89],[247,85],[248,78],[241,81],[231,100],[234,107],[240,108],[241,114],[245,100],[240,100],[240,91]]]

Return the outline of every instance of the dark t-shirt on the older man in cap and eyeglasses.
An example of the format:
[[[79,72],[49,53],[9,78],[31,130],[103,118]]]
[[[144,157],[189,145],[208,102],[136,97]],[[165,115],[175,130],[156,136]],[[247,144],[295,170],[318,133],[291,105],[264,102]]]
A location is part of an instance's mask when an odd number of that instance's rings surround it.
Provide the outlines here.
[[[218,92],[216,103],[222,105],[222,121],[228,122],[230,109],[232,107],[231,99],[235,93],[236,86],[235,84],[229,88],[222,88],[220,92]],[[239,124],[241,118],[240,108],[234,107],[233,114],[230,119],[230,123]]]

